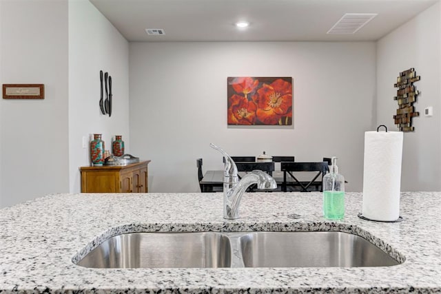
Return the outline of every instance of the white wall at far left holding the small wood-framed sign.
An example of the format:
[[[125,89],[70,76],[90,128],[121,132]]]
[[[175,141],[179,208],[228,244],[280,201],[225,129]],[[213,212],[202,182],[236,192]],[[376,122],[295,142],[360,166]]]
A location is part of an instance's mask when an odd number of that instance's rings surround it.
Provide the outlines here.
[[[1,83],[44,100],[0,100],[1,206],[68,192],[68,1],[2,0]]]

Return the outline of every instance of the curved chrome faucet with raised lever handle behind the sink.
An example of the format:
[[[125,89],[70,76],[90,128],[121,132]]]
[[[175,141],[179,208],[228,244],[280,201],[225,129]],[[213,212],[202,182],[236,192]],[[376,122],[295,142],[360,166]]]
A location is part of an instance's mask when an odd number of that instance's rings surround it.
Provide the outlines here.
[[[239,205],[245,190],[257,184],[258,189],[276,189],[276,180],[264,171],[255,170],[247,173],[239,181],[236,163],[234,160],[213,143],[210,147],[218,150],[225,157],[225,169],[223,171],[223,218],[236,220],[239,218]]]

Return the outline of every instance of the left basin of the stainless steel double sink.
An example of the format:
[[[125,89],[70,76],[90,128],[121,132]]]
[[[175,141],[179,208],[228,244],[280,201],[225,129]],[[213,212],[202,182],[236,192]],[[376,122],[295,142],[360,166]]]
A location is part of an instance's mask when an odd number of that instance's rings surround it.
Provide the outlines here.
[[[126,233],[101,243],[77,264],[92,268],[230,267],[226,235]]]

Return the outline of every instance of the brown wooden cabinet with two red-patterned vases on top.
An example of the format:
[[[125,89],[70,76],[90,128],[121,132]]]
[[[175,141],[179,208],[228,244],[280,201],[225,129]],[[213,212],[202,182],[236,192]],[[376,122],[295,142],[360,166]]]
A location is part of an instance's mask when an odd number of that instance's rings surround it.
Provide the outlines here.
[[[147,193],[149,162],[80,167],[81,193]]]

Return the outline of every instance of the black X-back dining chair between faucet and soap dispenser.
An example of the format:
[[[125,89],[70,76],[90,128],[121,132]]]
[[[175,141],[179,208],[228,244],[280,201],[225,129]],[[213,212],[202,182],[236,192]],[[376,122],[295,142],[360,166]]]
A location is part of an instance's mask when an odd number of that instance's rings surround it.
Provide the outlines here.
[[[283,171],[282,191],[323,191],[322,179],[329,171],[327,162],[282,162],[280,169]],[[305,176],[309,174],[309,180],[299,180],[299,172]],[[305,173],[307,172],[307,173]],[[289,177],[289,180],[288,180]],[[314,188],[314,189],[313,189]]]

